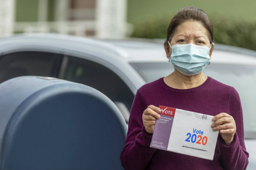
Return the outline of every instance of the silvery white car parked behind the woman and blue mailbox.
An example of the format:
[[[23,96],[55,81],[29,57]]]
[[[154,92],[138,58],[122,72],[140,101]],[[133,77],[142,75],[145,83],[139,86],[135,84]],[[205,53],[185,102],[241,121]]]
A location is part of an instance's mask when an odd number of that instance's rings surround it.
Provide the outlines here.
[[[173,71],[164,40],[97,40],[55,34],[0,39],[0,83],[23,76],[50,76],[91,86],[108,96],[128,122],[136,91]],[[248,170],[256,169],[256,52],[215,44],[203,71],[233,86],[240,95],[249,152]]]

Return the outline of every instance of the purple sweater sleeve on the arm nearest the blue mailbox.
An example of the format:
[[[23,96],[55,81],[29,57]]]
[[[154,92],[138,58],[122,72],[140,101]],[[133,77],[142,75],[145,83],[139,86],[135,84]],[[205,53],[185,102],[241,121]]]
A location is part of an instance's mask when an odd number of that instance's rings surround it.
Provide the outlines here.
[[[127,137],[120,154],[124,169],[146,169],[156,150],[150,147],[153,134],[148,133],[143,126],[142,115],[146,108],[138,90],[132,103]]]

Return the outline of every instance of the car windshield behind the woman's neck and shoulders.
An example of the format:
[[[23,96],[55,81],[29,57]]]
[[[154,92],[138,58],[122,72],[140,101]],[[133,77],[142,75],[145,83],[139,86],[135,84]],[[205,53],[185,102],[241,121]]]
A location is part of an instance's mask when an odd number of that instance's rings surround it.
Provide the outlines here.
[[[131,63],[143,79],[149,83],[169,75],[174,68],[170,63]],[[255,66],[211,63],[204,74],[234,87],[240,95],[244,114],[245,138],[256,138],[256,69]]]

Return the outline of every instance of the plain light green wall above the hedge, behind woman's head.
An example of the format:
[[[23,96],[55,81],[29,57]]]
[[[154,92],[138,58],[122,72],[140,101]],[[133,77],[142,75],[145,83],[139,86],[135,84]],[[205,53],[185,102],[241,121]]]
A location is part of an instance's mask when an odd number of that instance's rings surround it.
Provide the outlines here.
[[[181,8],[203,9],[209,18],[256,21],[256,0],[128,0],[128,22],[138,23],[151,17],[171,17]]]

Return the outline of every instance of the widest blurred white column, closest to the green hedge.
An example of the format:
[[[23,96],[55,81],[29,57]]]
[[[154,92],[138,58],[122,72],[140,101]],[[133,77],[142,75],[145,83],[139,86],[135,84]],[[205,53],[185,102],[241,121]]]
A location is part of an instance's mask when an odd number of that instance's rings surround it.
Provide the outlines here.
[[[122,38],[127,32],[127,0],[96,0],[96,36]]]

